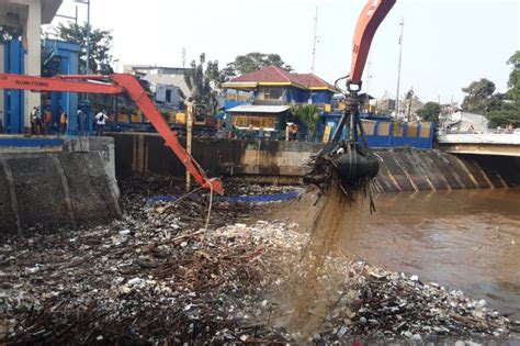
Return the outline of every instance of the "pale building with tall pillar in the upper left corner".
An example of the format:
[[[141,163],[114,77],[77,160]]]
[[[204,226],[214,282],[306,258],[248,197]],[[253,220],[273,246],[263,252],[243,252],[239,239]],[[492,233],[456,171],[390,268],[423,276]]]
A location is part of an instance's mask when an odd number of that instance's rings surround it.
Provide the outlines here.
[[[56,12],[61,5],[61,0],[2,0],[0,2],[0,25],[22,26],[23,27],[23,48],[26,54],[21,58],[23,64],[21,71],[31,76],[41,75],[42,41],[41,26],[53,21]],[[7,67],[4,45],[0,44],[0,72],[11,71]],[[23,53],[22,53],[23,55]],[[39,105],[39,92],[23,92],[23,102],[21,102],[21,113],[19,124],[21,127],[29,127],[29,110]],[[0,124],[4,121],[4,97],[0,96]],[[23,129],[16,129],[22,132]]]

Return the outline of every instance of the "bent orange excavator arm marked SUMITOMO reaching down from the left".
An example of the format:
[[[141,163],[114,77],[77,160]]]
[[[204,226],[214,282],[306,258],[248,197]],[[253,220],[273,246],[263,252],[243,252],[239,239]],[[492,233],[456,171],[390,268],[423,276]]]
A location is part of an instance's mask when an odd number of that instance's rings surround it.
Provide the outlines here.
[[[95,81],[93,81],[95,80]],[[112,81],[112,82],[106,82]],[[0,89],[22,89],[33,91],[69,91],[86,93],[118,94],[126,93],[150,121],[151,125],[165,139],[166,144],[179,157],[195,181],[203,188],[211,189],[219,194],[224,193],[218,179],[207,178],[195,159],[179,143],[176,132],[161,116],[154,102],[139,82],[125,74],[56,76],[52,78],[33,77],[13,74],[0,74]]]

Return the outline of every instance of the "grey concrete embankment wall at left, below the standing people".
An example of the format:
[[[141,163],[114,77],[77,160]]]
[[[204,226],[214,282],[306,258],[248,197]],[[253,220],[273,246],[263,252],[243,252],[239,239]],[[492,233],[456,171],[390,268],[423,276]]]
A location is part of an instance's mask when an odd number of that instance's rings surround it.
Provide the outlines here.
[[[108,159],[113,145],[110,149],[101,144],[94,150],[69,142],[56,153],[2,153],[0,234],[27,235],[32,227],[52,230],[120,216],[114,160]],[[74,152],[75,145],[82,149]]]

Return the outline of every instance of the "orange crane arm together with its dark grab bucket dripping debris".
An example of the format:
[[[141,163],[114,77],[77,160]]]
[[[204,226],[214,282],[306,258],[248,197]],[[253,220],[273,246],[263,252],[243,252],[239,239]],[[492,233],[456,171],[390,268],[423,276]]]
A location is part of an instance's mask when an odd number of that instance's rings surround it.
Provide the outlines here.
[[[358,19],[352,43],[352,64],[347,76],[347,108],[342,114],[330,143],[315,157],[313,171],[306,177],[307,182],[327,182],[331,170],[336,170],[343,187],[355,187],[374,178],[378,163],[368,148],[363,126],[360,122],[361,90],[366,58],[372,38],[396,0],[369,0]],[[343,129],[344,139],[340,141]],[[364,146],[358,143],[361,135]]]

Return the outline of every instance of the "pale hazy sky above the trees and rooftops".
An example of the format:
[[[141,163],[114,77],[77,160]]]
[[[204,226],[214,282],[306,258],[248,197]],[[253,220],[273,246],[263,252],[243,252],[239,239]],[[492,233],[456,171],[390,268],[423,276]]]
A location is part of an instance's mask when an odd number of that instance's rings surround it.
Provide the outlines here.
[[[350,68],[352,35],[365,0],[90,0],[93,27],[111,30],[114,67],[185,66],[201,53],[221,67],[237,55],[276,53],[309,72],[316,8],[315,74],[329,82]],[[59,14],[87,20],[64,0]],[[397,0],[372,42],[363,90],[394,98],[399,22],[404,20],[400,92],[422,101],[461,102],[462,88],[487,78],[507,90],[508,58],[520,49],[518,0]],[[55,25],[64,19],[56,18]],[[48,27],[47,27],[48,29]],[[370,66],[370,71],[369,70]],[[368,78],[370,76],[370,78]]]

